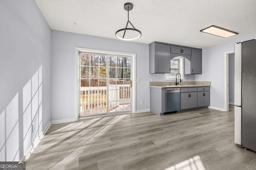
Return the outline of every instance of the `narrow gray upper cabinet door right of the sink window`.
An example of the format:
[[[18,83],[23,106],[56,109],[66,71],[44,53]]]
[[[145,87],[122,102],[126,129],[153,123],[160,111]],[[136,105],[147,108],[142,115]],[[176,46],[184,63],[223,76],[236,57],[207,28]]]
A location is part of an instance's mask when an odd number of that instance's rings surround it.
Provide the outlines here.
[[[202,74],[202,50],[192,49],[191,74]]]

